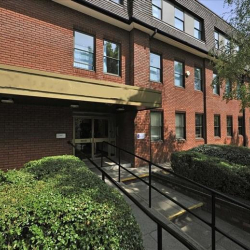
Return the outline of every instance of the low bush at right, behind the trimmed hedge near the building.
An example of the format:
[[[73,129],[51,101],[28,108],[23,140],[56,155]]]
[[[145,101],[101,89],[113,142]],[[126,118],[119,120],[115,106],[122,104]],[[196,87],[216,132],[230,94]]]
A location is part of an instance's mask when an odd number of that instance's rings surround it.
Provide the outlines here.
[[[201,145],[192,151],[250,167],[250,149],[232,145]]]

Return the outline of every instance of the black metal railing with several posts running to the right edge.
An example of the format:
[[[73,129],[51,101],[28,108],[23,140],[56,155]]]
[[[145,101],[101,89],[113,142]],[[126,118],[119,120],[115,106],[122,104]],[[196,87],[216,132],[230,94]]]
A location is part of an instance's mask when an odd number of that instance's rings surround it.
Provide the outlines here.
[[[174,202],[175,204],[177,204],[178,206],[180,206],[181,208],[183,208],[185,211],[187,211],[188,213],[192,214],[193,216],[195,216],[197,219],[199,219],[200,221],[202,221],[203,223],[205,223],[206,225],[210,226],[211,228],[211,231],[212,231],[212,237],[211,237],[211,244],[212,244],[212,250],[215,250],[216,249],[216,232],[219,232],[220,234],[222,234],[224,237],[230,239],[232,242],[234,242],[235,244],[237,244],[238,246],[242,247],[243,249],[245,250],[250,250],[250,248],[246,245],[244,245],[243,243],[241,243],[240,241],[238,241],[237,239],[235,239],[234,237],[230,236],[228,233],[224,232],[223,230],[219,229],[218,227],[216,227],[216,197],[220,197],[220,198],[224,198],[228,201],[230,201],[231,203],[235,204],[235,205],[238,205],[238,206],[241,206],[245,209],[247,209],[249,212],[250,212],[250,207],[242,202],[239,202],[235,199],[232,199],[231,197],[227,196],[227,195],[224,195],[216,190],[213,190],[211,188],[208,188],[202,184],[199,184],[195,181],[192,181],[186,177],[183,177],[179,174],[176,174],[174,173],[173,171],[169,170],[169,169],[166,169],[158,164],[155,164],[147,159],[144,159],[136,154],[133,154],[125,149],[122,149],[120,147],[117,147],[109,142],[103,142],[102,143],[102,152],[103,152],[103,145],[104,144],[107,144],[111,147],[114,147],[115,149],[118,150],[118,162],[116,162],[114,159],[108,157],[107,155],[104,155],[102,153],[102,156],[101,156],[101,167],[103,167],[103,157],[106,157],[107,159],[109,159],[110,161],[114,162],[116,165],[118,165],[118,182],[120,182],[121,180],[121,169],[127,171],[128,173],[130,173],[132,176],[134,176],[135,178],[141,180],[143,183],[145,183],[148,187],[149,187],[149,208],[151,208],[152,206],[152,189],[154,189],[155,191],[157,191],[158,193],[160,193],[161,195],[163,195],[164,197],[168,198],[169,200],[171,200],[172,202]],[[128,170],[127,168],[123,167],[121,165],[121,151],[122,152],[125,152],[129,155],[132,155],[133,157],[136,157],[137,159],[140,159],[146,163],[148,163],[149,165],[149,173],[148,173],[148,178],[149,178],[149,181],[145,181],[143,180],[141,177],[139,177],[138,175],[134,174],[133,172],[131,172],[130,170]],[[206,190],[207,192],[210,193],[211,195],[211,205],[212,205],[212,213],[211,213],[211,222],[209,221],[206,221],[204,220],[203,218],[201,218],[199,215],[193,213],[189,208],[187,208],[186,206],[182,205],[181,203],[179,203],[178,201],[174,200],[172,197],[170,197],[169,195],[163,193],[161,190],[159,190],[158,188],[152,186],[152,166],[155,166],[156,168],[159,168],[165,172],[168,172],[182,180],[185,180],[189,183],[192,183],[193,185],[199,187],[199,188],[202,188],[204,190]],[[164,228],[165,229],[165,228]],[[158,249],[161,249],[161,248],[158,248]]]

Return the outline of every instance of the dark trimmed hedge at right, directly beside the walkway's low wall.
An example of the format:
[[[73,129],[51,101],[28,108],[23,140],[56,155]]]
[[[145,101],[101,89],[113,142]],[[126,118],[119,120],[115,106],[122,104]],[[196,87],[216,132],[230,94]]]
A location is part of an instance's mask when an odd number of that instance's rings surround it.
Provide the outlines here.
[[[175,173],[226,194],[250,200],[250,168],[198,152],[175,152],[171,156]]]

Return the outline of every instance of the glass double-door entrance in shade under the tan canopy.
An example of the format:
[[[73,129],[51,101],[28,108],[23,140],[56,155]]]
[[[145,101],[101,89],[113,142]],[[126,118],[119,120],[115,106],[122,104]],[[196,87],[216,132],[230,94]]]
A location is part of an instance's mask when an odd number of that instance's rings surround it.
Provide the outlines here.
[[[112,117],[74,117],[74,144],[78,150],[91,159],[99,158],[103,141],[115,144],[115,122]],[[109,157],[115,156],[115,150],[107,144],[104,145],[103,151]],[[84,159],[79,152],[74,153]]]

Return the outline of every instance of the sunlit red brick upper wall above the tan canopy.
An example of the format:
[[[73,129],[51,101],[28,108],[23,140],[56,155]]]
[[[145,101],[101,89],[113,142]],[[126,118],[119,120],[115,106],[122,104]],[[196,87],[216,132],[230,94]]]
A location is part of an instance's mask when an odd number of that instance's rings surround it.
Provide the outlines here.
[[[0,64],[122,84],[129,82],[127,31],[51,0],[1,1],[0,23]],[[96,71],[73,67],[74,30],[95,36]],[[121,76],[103,73],[104,39],[121,44]]]

